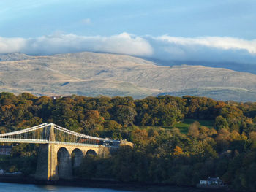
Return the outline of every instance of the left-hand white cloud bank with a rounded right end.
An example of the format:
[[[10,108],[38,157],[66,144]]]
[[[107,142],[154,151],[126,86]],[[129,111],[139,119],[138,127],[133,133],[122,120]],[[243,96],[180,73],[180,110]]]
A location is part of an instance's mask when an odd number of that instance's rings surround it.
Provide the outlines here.
[[[80,51],[108,52],[150,56],[151,45],[141,37],[123,33],[110,37],[53,34],[38,38],[1,38],[0,53],[22,52],[29,55],[52,55]]]

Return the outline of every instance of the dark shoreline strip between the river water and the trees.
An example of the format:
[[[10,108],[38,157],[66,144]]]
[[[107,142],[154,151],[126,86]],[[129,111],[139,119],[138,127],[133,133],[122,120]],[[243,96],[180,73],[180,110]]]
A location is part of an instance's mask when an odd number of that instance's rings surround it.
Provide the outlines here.
[[[58,180],[58,181],[42,181],[35,180],[34,177],[22,176],[0,176],[0,183],[18,183],[18,184],[32,184],[32,185],[56,185],[56,186],[72,186],[84,188],[108,188],[121,191],[148,191],[148,192],[206,192],[206,191],[223,191],[217,189],[203,189],[196,187],[174,186],[163,184],[147,184],[147,183],[124,183],[113,180]],[[230,191],[230,190],[228,190]],[[230,191],[232,192],[232,191]]]

